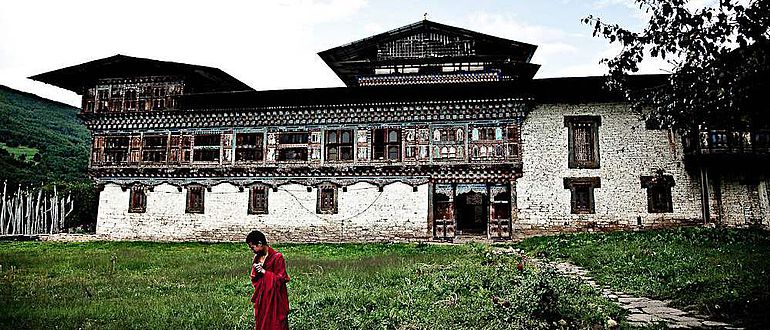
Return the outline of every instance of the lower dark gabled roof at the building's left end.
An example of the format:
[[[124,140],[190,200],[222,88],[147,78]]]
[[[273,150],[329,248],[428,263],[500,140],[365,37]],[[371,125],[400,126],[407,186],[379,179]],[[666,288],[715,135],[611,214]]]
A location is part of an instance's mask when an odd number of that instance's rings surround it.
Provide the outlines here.
[[[182,77],[186,88],[189,88],[186,92],[253,90],[217,68],[120,54],[41,73],[29,78],[82,94],[86,88],[94,86],[100,79],[166,75]]]

